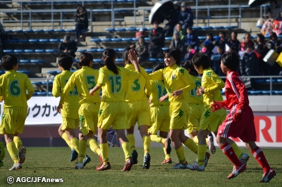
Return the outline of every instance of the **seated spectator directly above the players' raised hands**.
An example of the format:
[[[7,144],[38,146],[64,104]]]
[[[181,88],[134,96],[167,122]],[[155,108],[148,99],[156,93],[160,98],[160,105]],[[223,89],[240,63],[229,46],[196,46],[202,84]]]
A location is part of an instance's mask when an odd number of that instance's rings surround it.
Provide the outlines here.
[[[135,49],[138,54],[138,63],[143,63],[149,58],[149,44],[145,41],[143,36],[138,38]]]

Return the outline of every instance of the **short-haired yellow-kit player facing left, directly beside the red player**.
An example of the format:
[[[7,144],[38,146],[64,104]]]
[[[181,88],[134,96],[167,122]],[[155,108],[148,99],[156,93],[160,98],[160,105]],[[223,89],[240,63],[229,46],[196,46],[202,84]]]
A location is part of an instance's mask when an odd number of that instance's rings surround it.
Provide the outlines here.
[[[202,87],[197,88],[197,95],[203,96],[204,98],[204,112],[202,113],[199,132],[197,134],[197,138],[199,140],[197,162],[193,165],[188,165],[187,167],[191,170],[204,171],[207,166],[206,137],[211,131],[216,133],[219,125],[221,125],[226,117],[225,110],[221,109],[216,112],[212,112],[211,108],[213,101],[223,101],[220,90],[224,87],[224,82],[210,67],[211,61],[209,56],[206,54],[196,53],[192,58],[192,63],[195,70],[202,74]],[[228,143],[231,144],[238,157],[244,155],[236,143],[229,138]]]

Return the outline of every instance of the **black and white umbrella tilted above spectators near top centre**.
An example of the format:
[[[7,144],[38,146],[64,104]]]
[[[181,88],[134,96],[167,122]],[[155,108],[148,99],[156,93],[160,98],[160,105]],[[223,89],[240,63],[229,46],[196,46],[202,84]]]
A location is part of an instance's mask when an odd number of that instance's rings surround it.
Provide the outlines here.
[[[171,13],[173,10],[173,2],[171,0],[159,1],[153,6],[149,14],[149,22],[163,22],[164,19]]]

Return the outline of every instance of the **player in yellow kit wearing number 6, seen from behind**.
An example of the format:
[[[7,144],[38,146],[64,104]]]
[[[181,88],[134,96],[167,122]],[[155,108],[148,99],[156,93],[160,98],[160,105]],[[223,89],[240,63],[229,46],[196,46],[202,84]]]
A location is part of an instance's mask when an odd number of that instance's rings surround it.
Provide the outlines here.
[[[27,75],[17,72],[18,59],[15,56],[2,57],[1,65],[7,72],[0,76],[0,96],[4,99],[0,134],[4,134],[8,153],[14,162],[9,170],[18,170],[23,167],[26,153],[18,134],[23,133],[27,101],[35,89]]]

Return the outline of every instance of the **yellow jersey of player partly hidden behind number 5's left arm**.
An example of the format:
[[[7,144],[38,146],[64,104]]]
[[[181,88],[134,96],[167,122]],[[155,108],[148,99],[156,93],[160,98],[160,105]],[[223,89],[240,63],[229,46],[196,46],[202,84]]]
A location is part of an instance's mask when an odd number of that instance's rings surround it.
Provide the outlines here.
[[[73,72],[68,70],[63,70],[59,75],[54,77],[52,94],[54,97],[59,97],[63,93],[63,88],[66,86],[68,79],[70,79]],[[70,117],[72,119],[78,119],[78,109],[79,109],[79,97],[78,89],[74,86],[73,90],[68,92],[66,95],[65,102],[63,103],[63,109],[68,108],[71,110],[61,110],[61,115],[63,117]],[[67,112],[68,111],[68,112]]]

